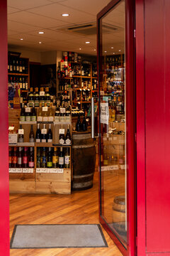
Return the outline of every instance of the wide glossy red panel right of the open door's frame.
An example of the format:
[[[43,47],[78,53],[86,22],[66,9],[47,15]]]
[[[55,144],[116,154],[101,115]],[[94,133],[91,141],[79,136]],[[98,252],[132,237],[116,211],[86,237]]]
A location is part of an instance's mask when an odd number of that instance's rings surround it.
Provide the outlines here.
[[[170,252],[169,12],[169,0],[145,1],[146,239],[160,255]]]

